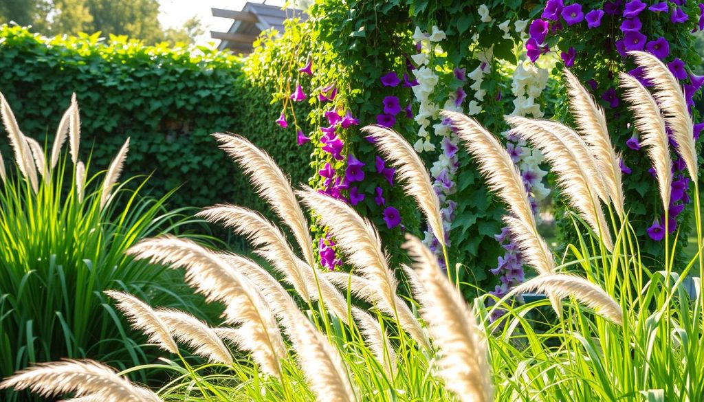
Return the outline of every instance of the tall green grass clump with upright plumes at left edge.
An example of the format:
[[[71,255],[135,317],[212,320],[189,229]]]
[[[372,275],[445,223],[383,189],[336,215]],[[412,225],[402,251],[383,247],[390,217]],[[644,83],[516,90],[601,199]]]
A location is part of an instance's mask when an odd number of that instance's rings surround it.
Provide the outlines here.
[[[20,130],[1,94],[0,111],[13,149],[7,168],[0,163],[0,377],[59,358],[149,362],[153,348],[139,345],[102,291],[197,310],[196,299],[172,297],[182,287],[177,275],[125,255],[137,240],[192,219],[167,211],[170,194],[145,196],[146,179],[120,178],[129,139],[107,170],[92,172],[90,158],[80,159],[75,96],[47,149]]]

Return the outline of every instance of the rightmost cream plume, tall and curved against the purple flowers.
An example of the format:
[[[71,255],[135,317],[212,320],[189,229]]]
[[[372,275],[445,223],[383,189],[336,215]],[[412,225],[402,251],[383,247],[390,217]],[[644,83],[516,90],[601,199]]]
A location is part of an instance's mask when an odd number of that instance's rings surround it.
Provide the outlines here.
[[[698,181],[697,149],[694,143],[694,123],[689,115],[687,101],[679,81],[662,61],[644,51],[629,51],[637,65],[643,67],[643,77],[655,85],[653,97],[658,101],[667,127],[677,144],[677,153],[684,159],[687,171],[694,182]],[[667,208],[667,206],[665,207]]]

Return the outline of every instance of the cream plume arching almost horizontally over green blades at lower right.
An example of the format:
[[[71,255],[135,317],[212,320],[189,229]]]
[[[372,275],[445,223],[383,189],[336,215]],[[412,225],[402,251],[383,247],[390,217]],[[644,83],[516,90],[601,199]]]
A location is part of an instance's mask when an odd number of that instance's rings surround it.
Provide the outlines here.
[[[508,294],[521,294],[529,291],[551,291],[560,298],[574,296],[579,303],[593,308],[615,324],[623,324],[623,313],[619,303],[604,289],[588,280],[570,274],[539,275],[513,288]]]

